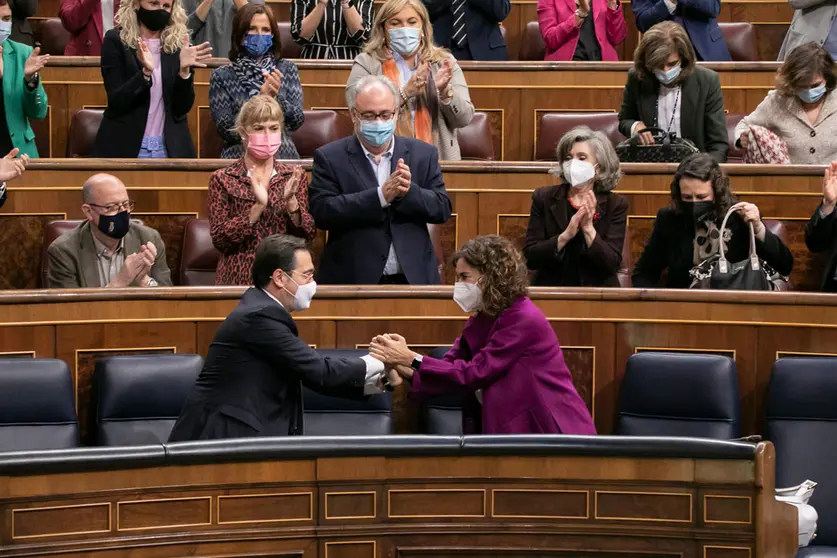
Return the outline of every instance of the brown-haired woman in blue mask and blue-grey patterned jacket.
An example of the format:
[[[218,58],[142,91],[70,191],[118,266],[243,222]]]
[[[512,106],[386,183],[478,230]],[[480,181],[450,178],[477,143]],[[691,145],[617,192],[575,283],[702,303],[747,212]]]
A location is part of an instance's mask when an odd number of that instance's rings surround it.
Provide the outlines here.
[[[236,12],[229,57],[232,62],[212,72],[209,79],[209,111],[224,140],[221,157],[241,157],[241,137],[233,129],[238,111],[248,99],[268,95],[279,102],[285,115],[276,158],[299,159],[290,135],[305,118],[299,70],[282,58],[279,28],[269,7],[247,4]]]

